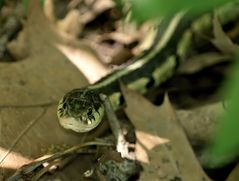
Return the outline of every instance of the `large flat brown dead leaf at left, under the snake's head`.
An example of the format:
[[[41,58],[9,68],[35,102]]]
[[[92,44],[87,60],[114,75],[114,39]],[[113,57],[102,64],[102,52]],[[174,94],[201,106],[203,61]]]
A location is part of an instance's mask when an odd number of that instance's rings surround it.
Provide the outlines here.
[[[29,10],[23,30],[28,58],[0,64],[0,175],[5,177],[42,156],[50,145],[74,145],[83,138],[59,126],[56,106],[67,91],[87,81],[54,47],[58,37],[40,5],[29,1]]]

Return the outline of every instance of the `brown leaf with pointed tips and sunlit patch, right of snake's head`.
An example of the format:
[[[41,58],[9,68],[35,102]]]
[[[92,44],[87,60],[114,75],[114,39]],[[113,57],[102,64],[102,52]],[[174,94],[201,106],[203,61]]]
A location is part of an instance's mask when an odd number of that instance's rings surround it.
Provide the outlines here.
[[[168,97],[156,107],[122,87],[126,113],[136,128],[136,154],[144,172],[140,180],[210,180],[200,167]]]

